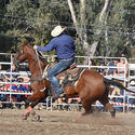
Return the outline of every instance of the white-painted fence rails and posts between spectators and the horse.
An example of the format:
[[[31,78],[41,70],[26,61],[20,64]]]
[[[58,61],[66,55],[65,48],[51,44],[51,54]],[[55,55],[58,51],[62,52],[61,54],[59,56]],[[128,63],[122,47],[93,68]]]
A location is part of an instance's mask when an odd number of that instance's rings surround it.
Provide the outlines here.
[[[1,56],[2,55],[2,56]],[[9,95],[9,100],[5,100],[5,102],[1,102],[1,103],[13,103],[12,100],[12,95],[31,95],[32,93],[31,92],[21,92],[21,91],[14,91],[12,90],[12,85],[13,84],[30,84],[29,82],[28,83],[18,83],[18,82],[13,82],[12,81],[12,77],[13,75],[30,75],[29,71],[18,71],[18,72],[6,72],[6,67],[11,68],[11,66],[13,65],[13,54],[8,54],[8,53],[0,53],[0,57],[1,60],[0,60],[0,64],[3,66],[4,70],[2,69],[0,71],[0,75],[10,75],[10,81],[9,82],[4,82],[4,81],[1,81],[0,84],[9,84],[10,87],[9,89],[0,89],[0,95],[4,94],[4,95]],[[48,62],[53,62],[55,59],[55,56],[49,56],[49,55],[44,55],[44,57],[48,59]],[[99,62],[99,60],[104,60],[105,63],[108,63],[109,60],[112,60],[113,58],[118,58],[120,59],[121,57],[102,57],[102,56],[95,56],[93,57],[94,59],[96,59],[96,62]],[[8,60],[5,60],[8,59]],[[126,60],[126,58],[124,58]],[[83,67],[83,68],[95,68],[95,69],[98,69],[98,68],[103,68],[103,69],[108,69],[108,68],[116,68],[116,67],[112,67],[112,66],[90,66],[90,57],[87,56],[76,56],[76,62],[77,62],[77,66],[78,67]],[[85,64],[83,64],[85,62]],[[27,65],[26,63],[22,64],[22,65]],[[126,67],[120,67],[120,68],[123,68],[126,72]],[[130,71],[135,71],[135,64],[129,64],[129,78],[125,77],[125,73],[123,77],[113,77],[113,78],[117,78],[117,79],[122,79],[124,80],[124,84],[125,84],[125,80],[130,80],[130,79],[135,79],[135,75],[134,73],[130,73]],[[110,77],[109,77],[110,78]],[[1,91],[2,90],[2,91]],[[122,98],[123,99],[123,104],[121,103],[114,103],[114,102],[110,102],[114,107],[122,107],[123,108],[123,111],[125,111],[125,106],[127,106],[129,108],[129,100],[130,98],[134,98],[134,96],[129,96],[127,97],[127,104],[125,103],[125,92],[124,92],[124,95],[123,96],[113,96],[114,98]],[[52,109],[52,106],[54,105],[60,105],[60,104],[53,104],[51,102],[51,107],[49,107],[49,98],[46,98],[46,102],[45,102],[45,105],[46,105],[46,108],[51,108]],[[67,104],[66,104],[67,105]],[[71,106],[73,104],[70,104]],[[73,106],[78,106],[78,104],[73,105]],[[80,106],[80,104],[79,104]],[[93,106],[100,106],[100,105],[93,105]],[[133,108],[135,107],[134,105],[132,106]]]

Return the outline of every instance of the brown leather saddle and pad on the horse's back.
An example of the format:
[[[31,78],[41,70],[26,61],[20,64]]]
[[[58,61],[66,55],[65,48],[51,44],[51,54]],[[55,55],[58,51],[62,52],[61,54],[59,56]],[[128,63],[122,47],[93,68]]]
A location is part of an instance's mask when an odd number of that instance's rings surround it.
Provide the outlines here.
[[[56,62],[50,63],[44,71],[43,71],[43,78],[46,78],[48,71],[56,64]],[[60,84],[64,85],[72,85],[75,82],[79,79],[83,68],[78,68],[77,64],[73,63],[68,69],[65,69],[64,71],[56,75],[56,78],[59,80]],[[68,84],[67,84],[68,83]]]

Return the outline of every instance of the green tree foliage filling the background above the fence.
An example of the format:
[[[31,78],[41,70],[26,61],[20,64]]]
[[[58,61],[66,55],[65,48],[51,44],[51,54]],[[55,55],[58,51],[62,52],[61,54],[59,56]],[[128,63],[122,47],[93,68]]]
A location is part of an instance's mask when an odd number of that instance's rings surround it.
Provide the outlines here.
[[[72,3],[80,22],[80,1],[72,0]],[[92,44],[96,40],[95,33],[98,29],[102,28],[104,32],[95,55],[120,56],[125,52],[127,56],[132,56],[131,50],[135,42],[134,0],[112,0],[104,27],[99,25],[98,17],[105,0],[85,0],[85,3],[89,43]],[[0,51],[15,50],[25,36],[35,38],[35,43],[43,46],[52,39],[50,31],[56,25],[68,27],[67,32],[77,42],[77,54],[84,55],[82,44],[72,28],[67,0],[1,0]]]

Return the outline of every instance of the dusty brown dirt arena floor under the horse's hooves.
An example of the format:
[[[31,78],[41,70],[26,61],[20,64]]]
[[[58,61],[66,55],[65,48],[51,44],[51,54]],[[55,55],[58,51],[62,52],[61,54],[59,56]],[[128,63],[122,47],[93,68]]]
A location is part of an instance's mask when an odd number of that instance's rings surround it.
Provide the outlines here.
[[[24,110],[0,109],[0,135],[135,135],[135,113],[96,112],[78,119],[80,112],[37,110],[41,122],[22,120]]]

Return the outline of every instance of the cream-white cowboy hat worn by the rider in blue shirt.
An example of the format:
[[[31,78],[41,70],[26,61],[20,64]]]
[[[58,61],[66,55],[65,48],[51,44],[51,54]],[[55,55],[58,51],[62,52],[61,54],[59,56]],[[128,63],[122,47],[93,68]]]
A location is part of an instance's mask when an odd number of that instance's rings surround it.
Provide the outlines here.
[[[52,31],[51,31],[51,36],[52,37],[57,37],[59,36],[63,31],[65,30],[65,28],[62,28],[62,26],[56,26]]]

